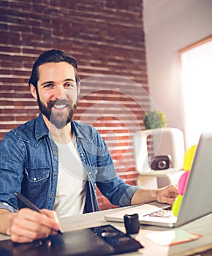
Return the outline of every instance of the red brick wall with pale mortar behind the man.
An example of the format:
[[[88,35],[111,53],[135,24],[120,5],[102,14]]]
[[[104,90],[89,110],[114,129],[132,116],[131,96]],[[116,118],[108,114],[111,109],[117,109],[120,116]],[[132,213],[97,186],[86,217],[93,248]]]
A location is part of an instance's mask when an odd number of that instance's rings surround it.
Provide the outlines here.
[[[37,116],[27,85],[33,61],[66,50],[82,81],[75,119],[99,130],[118,175],[136,184],[132,134],[149,108],[142,0],[1,0],[0,29],[0,140]],[[113,207],[100,192],[98,200]]]

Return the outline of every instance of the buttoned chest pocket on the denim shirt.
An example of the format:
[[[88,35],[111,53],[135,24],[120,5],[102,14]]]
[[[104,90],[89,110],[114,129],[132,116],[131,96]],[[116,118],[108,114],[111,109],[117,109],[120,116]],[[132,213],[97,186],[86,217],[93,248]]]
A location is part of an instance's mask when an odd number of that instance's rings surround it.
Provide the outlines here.
[[[37,201],[44,198],[46,200],[50,186],[50,168],[26,167],[23,183],[22,187],[29,198]]]

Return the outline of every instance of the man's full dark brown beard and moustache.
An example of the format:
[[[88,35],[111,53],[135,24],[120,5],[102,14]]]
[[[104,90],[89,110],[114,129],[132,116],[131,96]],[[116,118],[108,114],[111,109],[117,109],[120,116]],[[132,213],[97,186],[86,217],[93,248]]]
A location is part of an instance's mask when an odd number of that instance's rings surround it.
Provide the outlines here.
[[[37,97],[37,103],[39,105],[40,112],[44,116],[46,116],[46,118],[48,118],[48,121],[50,121],[50,123],[55,125],[58,129],[64,128],[67,124],[69,124],[72,121],[72,117],[75,113],[75,110],[77,109],[77,102],[78,100],[74,105],[72,105],[66,99],[57,99],[50,100],[49,102],[47,102],[47,106],[45,106],[44,103],[42,103],[39,99],[39,95]],[[58,111],[58,113],[54,113],[52,111],[54,105],[66,105],[66,113],[64,113],[64,111]]]

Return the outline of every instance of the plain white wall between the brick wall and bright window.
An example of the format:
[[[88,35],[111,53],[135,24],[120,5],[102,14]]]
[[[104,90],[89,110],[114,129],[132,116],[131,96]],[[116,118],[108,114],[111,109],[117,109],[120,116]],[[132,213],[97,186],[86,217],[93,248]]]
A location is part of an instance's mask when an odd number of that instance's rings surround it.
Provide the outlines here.
[[[178,50],[212,34],[212,0],[143,0],[148,84],[168,126],[184,132]]]

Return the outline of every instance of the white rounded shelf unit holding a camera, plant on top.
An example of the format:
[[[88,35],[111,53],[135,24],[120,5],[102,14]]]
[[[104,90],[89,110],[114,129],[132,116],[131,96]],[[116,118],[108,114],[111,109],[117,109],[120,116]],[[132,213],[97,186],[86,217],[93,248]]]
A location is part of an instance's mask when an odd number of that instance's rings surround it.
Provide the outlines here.
[[[161,136],[165,133],[170,135],[170,146],[173,151],[173,167],[166,170],[151,170],[148,162],[148,137],[152,135]],[[159,140],[159,146],[162,143]],[[165,178],[166,184],[177,184],[178,179],[183,174],[183,158],[185,154],[183,132],[180,129],[165,127],[159,129],[148,129],[135,132],[133,138],[135,167],[139,176],[137,184],[141,187],[156,187],[157,178]],[[156,148],[157,149],[157,148]],[[156,154],[155,154],[156,155]]]

